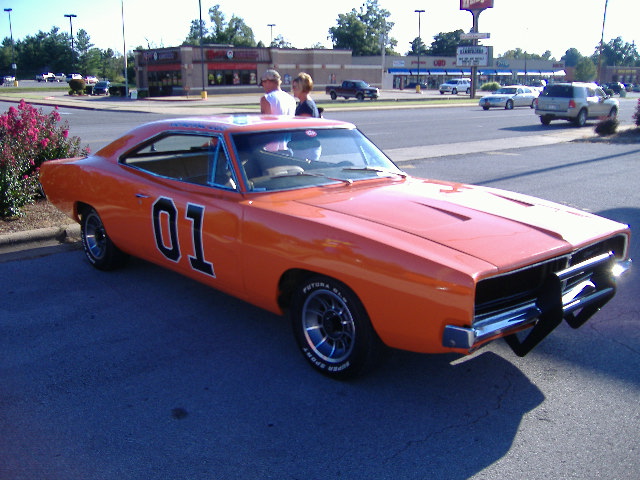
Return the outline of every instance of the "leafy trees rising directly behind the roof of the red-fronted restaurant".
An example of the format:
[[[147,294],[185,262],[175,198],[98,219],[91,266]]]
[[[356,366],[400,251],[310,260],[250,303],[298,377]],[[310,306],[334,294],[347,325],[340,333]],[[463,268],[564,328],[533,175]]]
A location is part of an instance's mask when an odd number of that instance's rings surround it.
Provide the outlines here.
[[[204,20],[202,24],[200,20],[192,20],[189,34],[183,44],[199,45],[202,26],[203,43],[229,44],[236,47],[256,46],[253,30],[242,18],[235,15],[232,15],[227,22],[224,13],[220,10],[220,5],[214,5],[209,9],[209,19],[212,23],[210,28],[207,28]]]

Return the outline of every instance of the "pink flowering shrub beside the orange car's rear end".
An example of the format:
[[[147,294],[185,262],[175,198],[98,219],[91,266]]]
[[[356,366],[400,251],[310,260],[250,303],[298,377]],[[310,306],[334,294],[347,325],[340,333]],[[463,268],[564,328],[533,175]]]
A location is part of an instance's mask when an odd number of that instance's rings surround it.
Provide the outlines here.
[[[0,116],[0,218],[20,215],[39,193],[38,172],[46,160],[87,155],[80,138],[69,137],[56,107],[50,114],[24,100]]]

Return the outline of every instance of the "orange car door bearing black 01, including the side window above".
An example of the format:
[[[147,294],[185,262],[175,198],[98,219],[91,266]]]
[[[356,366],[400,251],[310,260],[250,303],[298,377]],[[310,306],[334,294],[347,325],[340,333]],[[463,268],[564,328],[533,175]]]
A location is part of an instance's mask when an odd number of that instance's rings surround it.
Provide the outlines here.
[[[223,137],[164,135],[121,164],[137,178],[123,200],[131,253],[240,294],[242,195]]]

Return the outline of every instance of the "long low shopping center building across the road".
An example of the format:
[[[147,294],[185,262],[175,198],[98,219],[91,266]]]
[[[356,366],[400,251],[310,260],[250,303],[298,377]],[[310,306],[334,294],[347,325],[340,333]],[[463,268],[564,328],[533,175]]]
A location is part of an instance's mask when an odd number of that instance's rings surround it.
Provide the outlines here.
[[[531,59],[490,59],[478,67],[478,83],[535,84],[541,80],[572,80],[563,62]],[[300,72],[314,80],[315,90],[347,79],[364,80],[384,89],[407,88],[418,78],[430,88],[450,78],[469,77],[470,68],[456,65],[456,57],[368,56],[354,57],[350,50],[248,48],[228,45],[181,46],[135,52],[138,90],[150,96],[246,93],[259,88],[262,73],[275,68],[290,85]],[[622,68],[622,67],[620,67]],[[640,82],[640,69],[627,72],[607,67],[603,82]],[[624,77],[624,78],[623,78]],[[411,88],[411,87],[409,87]]]

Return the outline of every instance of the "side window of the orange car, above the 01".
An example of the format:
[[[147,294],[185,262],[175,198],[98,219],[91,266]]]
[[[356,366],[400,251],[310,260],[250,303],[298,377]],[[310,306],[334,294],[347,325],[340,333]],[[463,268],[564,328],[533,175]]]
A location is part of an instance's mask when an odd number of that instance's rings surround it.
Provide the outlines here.
[[[237,181],[222,138],[171,134],[124,155],[120,162],[187,183],[235,189]]]

